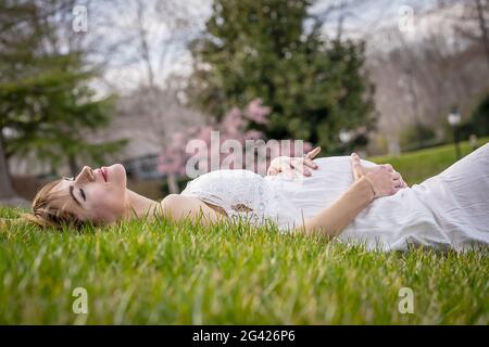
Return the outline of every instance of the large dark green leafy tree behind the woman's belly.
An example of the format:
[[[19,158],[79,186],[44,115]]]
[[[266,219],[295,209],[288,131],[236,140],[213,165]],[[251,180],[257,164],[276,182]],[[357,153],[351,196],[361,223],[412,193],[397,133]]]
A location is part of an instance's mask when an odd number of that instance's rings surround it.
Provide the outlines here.
[[[215,0],[205,34],[191,43],[188,93],[210,114],[261,98],[272,107],[268,138],[340,147],[341,129],[372,129],[373,88],[362,67],[364,46],[322,38],[309,0]]]

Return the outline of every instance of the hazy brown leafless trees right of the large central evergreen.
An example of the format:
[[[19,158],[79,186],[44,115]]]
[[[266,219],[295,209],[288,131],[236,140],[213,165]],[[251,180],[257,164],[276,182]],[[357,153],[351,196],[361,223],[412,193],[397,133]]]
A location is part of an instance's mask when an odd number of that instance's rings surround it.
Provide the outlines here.
[[[393,23],[367,41],[378,138],[391,137],[393,143],[412,124],[432,128],[438,140],[449,138],[447,116],[452,105],[468,115],[489,87],[475,12],[471,21],[465,16],[465,8],[473,8],[474,0],[439,2],[417,10],[411,30],[400,30]]]

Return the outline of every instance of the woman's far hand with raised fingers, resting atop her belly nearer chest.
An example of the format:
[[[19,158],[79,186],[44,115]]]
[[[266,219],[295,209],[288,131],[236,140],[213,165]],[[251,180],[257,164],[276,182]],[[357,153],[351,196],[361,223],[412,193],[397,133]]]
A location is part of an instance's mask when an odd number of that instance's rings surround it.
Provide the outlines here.
[[[309,168],[317,169],[317,165],[312,160],[318,153],[321,147],[315,147],[303,157],[278,156],[269,164],[266,175],[275,176],[280,172],[288,177],[297,177],[297,175],[311,176]]]

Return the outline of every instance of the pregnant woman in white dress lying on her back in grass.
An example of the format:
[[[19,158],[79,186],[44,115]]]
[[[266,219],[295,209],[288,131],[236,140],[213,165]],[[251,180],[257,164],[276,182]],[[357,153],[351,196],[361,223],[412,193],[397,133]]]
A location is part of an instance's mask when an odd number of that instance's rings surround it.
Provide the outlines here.
[[[266,177],[241,169],[211,171],[160,203],[128,190],[122,165],[86,166],[76,179],[46,184],[25,218],[46,227],[145,216],[190,217],[204,224],[243,217],[259,226],[272,220],[284,232],[319,232],[385,250],[489,244],[489,144],[411,188],[390,165],[356,154],[313,160],[318,152],[278,157]],[[290,163],[317,171],[297,166],[304,175],[291,177]]]

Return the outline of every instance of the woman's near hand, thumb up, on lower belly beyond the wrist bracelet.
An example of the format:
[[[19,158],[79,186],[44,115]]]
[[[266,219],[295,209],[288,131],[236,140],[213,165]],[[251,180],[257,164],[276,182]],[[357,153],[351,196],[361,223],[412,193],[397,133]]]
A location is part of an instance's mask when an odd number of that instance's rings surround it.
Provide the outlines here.
[[[355,181],[365,178],[371,183],[374,198],[393,195],[400,189],[406,187],[401,175],[394,171],[389,164],[365,168],[362,166],[356,153],[353,153],[351,155],[351,168]]]

